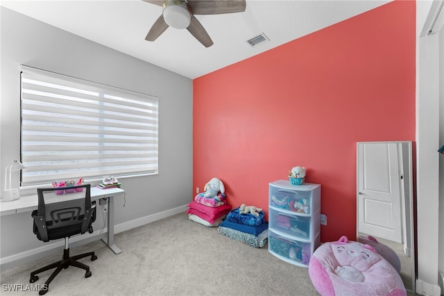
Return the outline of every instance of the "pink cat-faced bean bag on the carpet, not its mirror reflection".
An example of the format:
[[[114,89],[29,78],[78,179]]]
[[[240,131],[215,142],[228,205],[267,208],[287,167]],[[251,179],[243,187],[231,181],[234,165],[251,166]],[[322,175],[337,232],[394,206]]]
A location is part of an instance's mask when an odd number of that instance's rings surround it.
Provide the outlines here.
[[[407,295],[400,275],[388,261],[370,245],[349,241],[346,236],[318,247],[308,272],[322,296]]]

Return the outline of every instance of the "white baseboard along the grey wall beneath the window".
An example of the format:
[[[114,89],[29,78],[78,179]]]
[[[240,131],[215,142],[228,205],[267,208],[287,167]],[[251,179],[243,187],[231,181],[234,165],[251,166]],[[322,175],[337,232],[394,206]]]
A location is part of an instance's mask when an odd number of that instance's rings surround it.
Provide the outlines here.
[[[187,206],[179,206],[178,208],[171,208],[170,210],[163,211],[160,213],[155,213],[153,215],[148,215],[142,218],[138,218],[135,220],[131,220],[128,222],[123,222],[121,224],[114,225],[114,234],[122,231],[127,231],[133,229],[135,227],[140,227],[145,224],[155,222],[157,220],[170,217],[172,215],[176,215],[179,213],[184,213],[187,211]],[[99,240],[101,238],[106,238],[106,232],[108,229],[103,229],[103,233],[100,231],[96,231],[94,233],[85,233],[82,236],[74,236],[69,239],[70,247],[77,247],[79,245],[85,245],[94,240]],[[37,247],[35,249],[28,250],[26,252],[22,252],[19,254],[14,254],[12,256],[8,256],[5,258],[0,258],[0,268],[7,269],[13,268],[15,266],[35,261],[39,258],[44,258],[51,254],[55,254],[56,252],[60,252],[60,247],[65,246],[65,240],[61,240],[58,242],[49,242],[46,243],[42,247]],[[124,252],[124,250],[122,250]]]

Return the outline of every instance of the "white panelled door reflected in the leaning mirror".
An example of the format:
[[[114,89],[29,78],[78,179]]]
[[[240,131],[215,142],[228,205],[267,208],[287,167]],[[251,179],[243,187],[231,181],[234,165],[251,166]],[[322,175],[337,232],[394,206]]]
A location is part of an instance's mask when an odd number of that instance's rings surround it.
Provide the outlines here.
[[[398,143],[357,144],[359,232],[402,243]]]

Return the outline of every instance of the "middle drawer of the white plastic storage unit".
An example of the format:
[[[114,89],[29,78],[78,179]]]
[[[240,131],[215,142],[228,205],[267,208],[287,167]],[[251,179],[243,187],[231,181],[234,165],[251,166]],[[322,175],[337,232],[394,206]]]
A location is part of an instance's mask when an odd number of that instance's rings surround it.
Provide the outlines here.
[[[291,215],[270,208],[268,212],[268,222],[270,227],[276,231],[285,233],[288,236],[296,236],[309,240],[310,236],[310,217],[302,217],[298,215]]]

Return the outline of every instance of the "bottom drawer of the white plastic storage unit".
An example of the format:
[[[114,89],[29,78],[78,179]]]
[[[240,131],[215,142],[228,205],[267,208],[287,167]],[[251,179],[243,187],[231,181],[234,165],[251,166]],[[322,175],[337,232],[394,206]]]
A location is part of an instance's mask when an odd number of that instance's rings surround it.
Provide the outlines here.
[[[279,236],[268,229],[268,251],[280,256],[289,263],[308,265],[311,255],[311,244],[299,242],[284,236]]]

